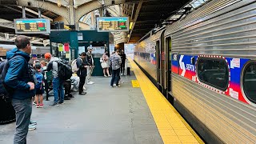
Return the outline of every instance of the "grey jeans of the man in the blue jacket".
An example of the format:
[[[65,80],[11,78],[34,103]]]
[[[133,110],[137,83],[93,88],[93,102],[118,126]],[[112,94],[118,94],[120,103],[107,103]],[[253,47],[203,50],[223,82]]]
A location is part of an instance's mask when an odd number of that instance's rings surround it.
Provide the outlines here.
[[[16,130],[14,144],[26,144],[26,135],[29,130],[30,116],[32,113],[31,98],[18,100],[12,99],[16,114]]]

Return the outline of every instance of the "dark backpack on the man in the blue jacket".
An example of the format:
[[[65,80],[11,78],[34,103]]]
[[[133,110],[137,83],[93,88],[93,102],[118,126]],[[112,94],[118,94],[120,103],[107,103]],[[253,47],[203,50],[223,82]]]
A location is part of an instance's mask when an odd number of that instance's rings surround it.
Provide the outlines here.
[[[10,60],[18,57],[23,58],[21,55],[15,55],[13,58],[10,58]],[[6,101],[10,101],[10,94],[14,91],[13,88],[5,84],[6,73],[9,68],[10,60],[6,59],[5,61],[0,62],[0,98],[5,99]]]

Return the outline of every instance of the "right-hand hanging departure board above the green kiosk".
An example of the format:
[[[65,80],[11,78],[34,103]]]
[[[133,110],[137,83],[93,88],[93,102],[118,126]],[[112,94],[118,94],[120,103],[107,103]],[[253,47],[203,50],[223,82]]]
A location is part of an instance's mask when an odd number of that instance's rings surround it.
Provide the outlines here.
[[[101,17],[97,18],[98,32],[129,31],[128,17]]]

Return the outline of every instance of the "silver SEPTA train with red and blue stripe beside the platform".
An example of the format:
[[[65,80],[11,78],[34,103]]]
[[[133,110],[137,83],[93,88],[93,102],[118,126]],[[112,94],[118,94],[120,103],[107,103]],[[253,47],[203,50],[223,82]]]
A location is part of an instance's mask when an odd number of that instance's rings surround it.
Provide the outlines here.
[[[134,61],[208,143],[256,143],[256,1],[212,0]]]

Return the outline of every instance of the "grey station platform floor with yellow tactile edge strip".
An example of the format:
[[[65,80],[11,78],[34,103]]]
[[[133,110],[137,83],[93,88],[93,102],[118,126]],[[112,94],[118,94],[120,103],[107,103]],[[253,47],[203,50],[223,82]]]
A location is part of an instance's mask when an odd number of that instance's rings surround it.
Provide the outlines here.
[[[74,93],[59,106],[49,106],[50,97],[44,108],[33,106],[38,125],[27,143],[204,143],[142,70],[133,61],[130,66],[121,87],[110,87],[110,77],[93,77],[86,95]],[[14,129],[15,123],[0,126],[0,143],[13,143]]]

